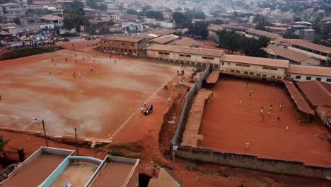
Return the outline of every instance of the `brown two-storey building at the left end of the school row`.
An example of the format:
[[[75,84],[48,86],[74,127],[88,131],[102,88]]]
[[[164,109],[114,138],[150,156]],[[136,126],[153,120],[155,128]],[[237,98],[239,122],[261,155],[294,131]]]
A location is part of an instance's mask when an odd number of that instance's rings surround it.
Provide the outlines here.
[[[108,35],[101,38],[101,47],[103,52],[144,57],[146,50],[146,39],[130,36]]]

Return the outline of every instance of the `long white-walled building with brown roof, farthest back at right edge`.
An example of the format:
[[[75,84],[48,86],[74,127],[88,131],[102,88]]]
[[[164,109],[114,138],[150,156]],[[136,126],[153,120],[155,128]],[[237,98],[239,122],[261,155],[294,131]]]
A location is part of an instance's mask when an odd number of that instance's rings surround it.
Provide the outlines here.
[[[331,57],[331,47],[317,45],[305,40],[290,39],[281,41],[281,45],[287,46],[289,50],[301,52],[303,54],[315,57],[318,60],[326,61]]]

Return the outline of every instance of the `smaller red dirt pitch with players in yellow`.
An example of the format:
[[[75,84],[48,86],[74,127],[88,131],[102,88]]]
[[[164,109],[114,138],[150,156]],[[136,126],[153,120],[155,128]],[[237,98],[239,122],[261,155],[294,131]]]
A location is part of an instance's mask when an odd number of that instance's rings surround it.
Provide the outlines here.
[[[199,130],[204,140],[198,142],[199,147],[331,166],[331,147],[323,140],[327,130],[315,121],[298,123],[294,103],[280,86],[252,81],[247,86],[240,79],[221,78],[211,90],[214,96],[204,108]],[[283,111],[279,110],[280,104]],[[261,115],[262,106],[265,109]]]

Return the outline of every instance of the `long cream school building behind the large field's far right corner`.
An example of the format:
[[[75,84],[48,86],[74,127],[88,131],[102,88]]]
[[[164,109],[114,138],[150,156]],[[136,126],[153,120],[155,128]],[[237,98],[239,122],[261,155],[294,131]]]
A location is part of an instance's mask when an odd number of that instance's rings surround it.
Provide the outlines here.
[[[147,57],[190,66],[219,69],[223,50],[209,50],[195,47],[181,47],[177,45],[151,45],[147,47]]]

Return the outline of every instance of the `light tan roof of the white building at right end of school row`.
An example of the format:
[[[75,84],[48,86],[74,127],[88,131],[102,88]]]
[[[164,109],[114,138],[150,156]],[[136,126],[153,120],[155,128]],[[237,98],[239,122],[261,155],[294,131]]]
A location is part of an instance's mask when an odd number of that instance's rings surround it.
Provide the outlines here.
[[[310,74],[331,77],[331,67],[290,65],[285,72],[290,74]]]

